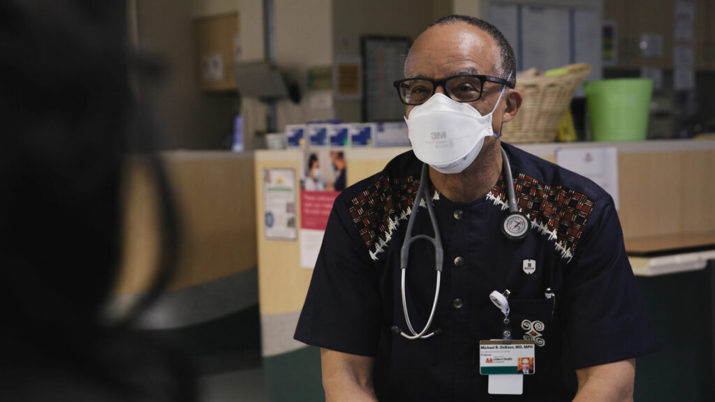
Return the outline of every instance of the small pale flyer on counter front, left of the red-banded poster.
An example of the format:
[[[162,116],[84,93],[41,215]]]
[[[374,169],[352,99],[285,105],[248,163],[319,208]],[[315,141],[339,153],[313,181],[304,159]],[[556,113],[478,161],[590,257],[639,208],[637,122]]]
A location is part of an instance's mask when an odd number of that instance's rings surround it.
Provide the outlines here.
[[[266,239],[295,240],[295,170],[285,167],[263,170],[263,227]]]

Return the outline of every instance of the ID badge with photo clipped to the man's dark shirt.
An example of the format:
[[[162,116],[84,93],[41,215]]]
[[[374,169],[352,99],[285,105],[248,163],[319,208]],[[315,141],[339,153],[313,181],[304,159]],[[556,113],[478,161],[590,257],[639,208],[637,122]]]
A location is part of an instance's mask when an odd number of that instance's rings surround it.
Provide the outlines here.
[[[533,340],[481,340],[479,373],[489,376],[490,394],[521,395],[523,376],[536,370]]]

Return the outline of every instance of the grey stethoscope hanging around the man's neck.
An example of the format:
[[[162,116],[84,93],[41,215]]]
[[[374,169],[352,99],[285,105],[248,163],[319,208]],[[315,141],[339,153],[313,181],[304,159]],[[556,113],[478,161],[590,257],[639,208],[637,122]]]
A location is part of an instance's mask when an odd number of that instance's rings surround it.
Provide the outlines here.
[[[514,182],[511,176],[511,165],[509,163],[509,157],[506,152],[501,148],[502,157],[502,172],[504,175],[504,181],[506,181],[507,197],[508,197],[508,207],[509,213],[501,221],[501,232],[509,240],[523,240],[528,234],[529,230],[529,219],[523,212],[519,212],[519,207],[516,204],[516,195],[514,192]],[[442,262],[444,258],[444,250],[442,248],[442,238],[440,237],[440,230],[437,225],[437,217],[435,215],[435,210],[432,205],[432,197],[429,192],[429,167],[427,164],[422,166],[422,172],[420,174],[420,187],[418,187],[417,195],[415,196],[415,202],[413,202],[412,214],[410,215],[410,220],[407,224],[407,234],[405,235],[405,242],[403,243],[402,250],[400,251],[400,271],[402,278],[400,279],[400,290],[402,292],[402,302],[403,302],[403,313],[405,314],[405,322],[407,323],[408,330],[410,330],[411,335],[405,333],[397,325],[393,325],[393,332],[403,335],[403,337],[408,339],[426,339],[433,335],[437,335],[441,332],[440,328],[437,328],[428,333],[430,325],[432,325],[432,320],[435,318],[435,310],[437,310],[437,300],[440,295],[440,279],[442,275]],[[417,212],[420,209],[420,202],[424,200],[425,206],[427,207],[427,212],[430,215],[430,221],[432,222],[432,229],[435,232],[435,237],[430,237],[428,235],[412,235],[412,229],[415,225],[415,220]],[[415,331],[410,321],[410,314],[407,310],[407,299],[405,297],[405,273],[408,262],[408,255],[410,255],[410,245],[416,240],[427,240],[431,242],[435,247],[435,268],[437,270],[437,281],[435,285],[435,298],[432,302],[432,310],[430,311],[430,318],[427,320],[425,327],[420,330],[420,332]]]

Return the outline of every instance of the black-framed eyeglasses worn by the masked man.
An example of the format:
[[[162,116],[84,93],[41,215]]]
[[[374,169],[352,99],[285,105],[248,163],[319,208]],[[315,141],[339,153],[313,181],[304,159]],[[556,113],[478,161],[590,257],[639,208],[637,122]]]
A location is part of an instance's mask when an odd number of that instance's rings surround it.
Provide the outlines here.
[[[394,82],[400,100],[404,104],[423,104],[430,99],[437,87],[443,87],[445,94],[457,102],[474,102],[482,97],[484,83],[494,82],[513,88],[506,79],[488,75],[455,75],[445,79],[408,78]]]

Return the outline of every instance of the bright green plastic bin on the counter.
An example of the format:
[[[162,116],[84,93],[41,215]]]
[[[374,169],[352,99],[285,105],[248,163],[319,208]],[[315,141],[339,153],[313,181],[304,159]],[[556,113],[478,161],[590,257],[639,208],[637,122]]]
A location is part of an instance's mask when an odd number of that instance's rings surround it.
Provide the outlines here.
[[[586,82],[583,89],[594,141],[646,139],[652,79],[603,79]]]

